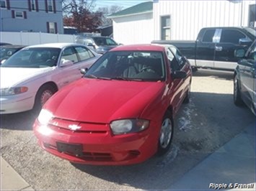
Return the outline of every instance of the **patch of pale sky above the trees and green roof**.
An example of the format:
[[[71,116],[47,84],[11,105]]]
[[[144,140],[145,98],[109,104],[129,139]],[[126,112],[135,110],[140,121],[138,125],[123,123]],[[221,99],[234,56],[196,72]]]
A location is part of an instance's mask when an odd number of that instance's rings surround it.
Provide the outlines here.
[[[141,4],[145,1],[149,1],[149,0],[96,0],[96,5],[97,7],[102,7],[102,6],[112,6],[112,5],[118,5],[118,6],[122,6],[123,9],[126,9],[130,6],[134,6],[136,4]]]

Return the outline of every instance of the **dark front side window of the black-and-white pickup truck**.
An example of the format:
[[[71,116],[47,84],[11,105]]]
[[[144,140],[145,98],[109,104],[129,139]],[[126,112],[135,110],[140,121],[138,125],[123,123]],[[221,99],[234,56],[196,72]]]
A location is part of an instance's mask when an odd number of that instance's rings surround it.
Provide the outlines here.
[[[221,32],[221,41],[224,43],[233,43],[238,45],[239,39],[243,39],[246,36],[235,29],[223,29]]]

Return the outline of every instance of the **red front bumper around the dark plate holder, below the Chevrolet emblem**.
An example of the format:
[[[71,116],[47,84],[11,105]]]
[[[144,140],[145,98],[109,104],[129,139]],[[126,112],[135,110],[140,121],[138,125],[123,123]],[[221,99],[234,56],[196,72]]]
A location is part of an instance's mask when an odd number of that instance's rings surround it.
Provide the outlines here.
[[[38,143],[43,149],[62,159],[81,164],[125,165],[144,162],[157,150],[159,129],[148,129],[136,134],[113,136],[107,124],[87,124],[89,129],[100,131],[71,131],[58,126],[40,126],[35,121],[33,126]],[[103,131],[105,130],[105,131]],[[82,154],[58,152],[57,142],[81,144]]]

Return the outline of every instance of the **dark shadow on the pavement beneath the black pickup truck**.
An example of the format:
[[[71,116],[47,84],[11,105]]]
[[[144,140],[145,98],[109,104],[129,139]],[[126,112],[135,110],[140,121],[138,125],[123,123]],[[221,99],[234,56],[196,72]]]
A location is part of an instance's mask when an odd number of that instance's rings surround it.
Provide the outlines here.
[[[193,73],[193,77],[210,77],[221,80],[233,80],[234,72],[225,70],[198,69]]]

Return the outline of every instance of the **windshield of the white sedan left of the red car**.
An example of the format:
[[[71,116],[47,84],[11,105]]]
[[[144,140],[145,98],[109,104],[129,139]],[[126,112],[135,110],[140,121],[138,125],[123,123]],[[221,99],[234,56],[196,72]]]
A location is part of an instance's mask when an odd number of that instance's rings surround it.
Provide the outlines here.
[[[57,65],[60,52],[60,48],[26,48],[9,57],[1,67],[53,67]]]

